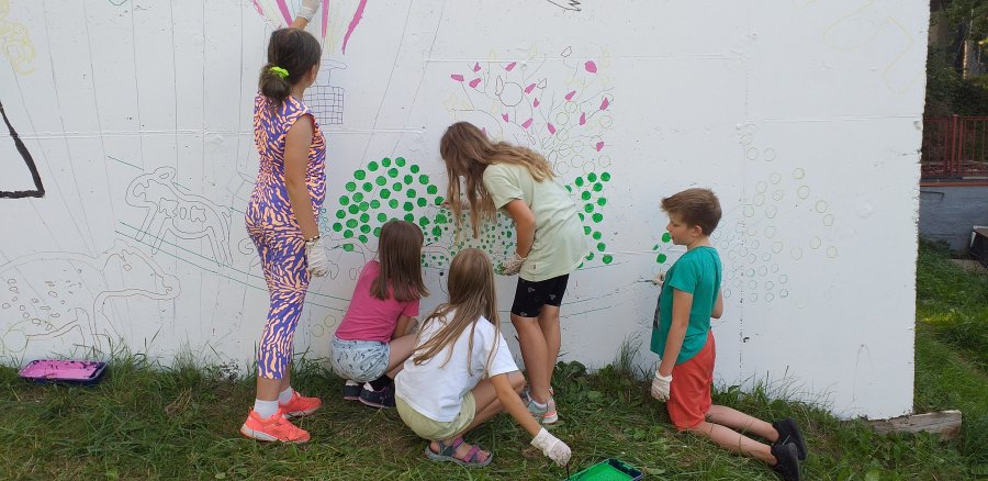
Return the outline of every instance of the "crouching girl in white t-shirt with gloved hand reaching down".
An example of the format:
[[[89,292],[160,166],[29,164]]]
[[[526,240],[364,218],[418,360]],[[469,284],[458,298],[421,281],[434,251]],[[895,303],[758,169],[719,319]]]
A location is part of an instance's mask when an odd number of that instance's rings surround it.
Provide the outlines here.
[[[402,421],[430,441],[429,459],[481,467],[494,455],[464,443],[463,435],[507,410],[535,436],[532,446],[565,466],[570,447],[541,427],[518,396],[525,377],[501,335],[486,254],[472,248],[457,254],[448,288],[449,302],[423,322],[415,351],[395,378]]]

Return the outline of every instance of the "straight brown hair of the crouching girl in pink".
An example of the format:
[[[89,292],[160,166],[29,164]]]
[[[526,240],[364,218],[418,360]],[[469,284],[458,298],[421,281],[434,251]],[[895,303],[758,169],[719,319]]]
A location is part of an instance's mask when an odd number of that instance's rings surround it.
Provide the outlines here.
[[[371,282],[371,295],[382,301],[391,297],[408,302],[429,295],[422,280],[422,243],[424,236],[417,225],[391,220],[381,227],[378,243],[378,260],[381,272]]]

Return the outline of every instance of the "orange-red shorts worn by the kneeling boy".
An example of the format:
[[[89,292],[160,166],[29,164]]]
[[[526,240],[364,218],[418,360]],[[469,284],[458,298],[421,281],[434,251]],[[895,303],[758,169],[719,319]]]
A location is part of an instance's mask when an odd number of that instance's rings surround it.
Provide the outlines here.
[[[673,367],[665,409],[676,429],[688,429],[706,420],[707,411],[710,411],[716,350],[711,331],[707,334],[707,344],[696,356]]]

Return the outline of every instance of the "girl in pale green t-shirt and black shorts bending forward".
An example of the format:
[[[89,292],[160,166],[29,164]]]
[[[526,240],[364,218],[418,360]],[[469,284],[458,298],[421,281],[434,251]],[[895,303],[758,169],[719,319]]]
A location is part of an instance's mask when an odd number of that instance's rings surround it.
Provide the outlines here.
[[[501,273],[518,275],[512,324],[530,383],[523,398],[540,423],[555,423],[550,381],[560,348],[559,307],[570,273],[590,250],[576,204],[555,182],[544,157],[530,148],[493,143],[470,123],[450,125],[439,153],[450,179],[447,199],[457,227],[462,226],[464,210],[474,237],[484,222],[496,219],[497,210],[515,221],[515,254]]]

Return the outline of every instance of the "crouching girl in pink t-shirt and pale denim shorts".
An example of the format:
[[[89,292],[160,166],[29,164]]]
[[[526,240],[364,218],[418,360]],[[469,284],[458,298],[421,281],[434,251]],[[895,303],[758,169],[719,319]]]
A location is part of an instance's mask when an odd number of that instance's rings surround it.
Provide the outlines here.
[[[378,259],[363,266],[333,339],[329,362],[347,380],[344,399],[394,407],[394,376],[415,349],[418,300],[429,294],[422,280],[423,240],[411,222],[381,227]]]

